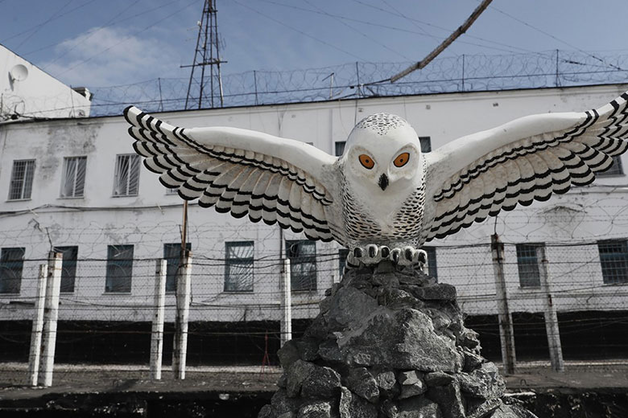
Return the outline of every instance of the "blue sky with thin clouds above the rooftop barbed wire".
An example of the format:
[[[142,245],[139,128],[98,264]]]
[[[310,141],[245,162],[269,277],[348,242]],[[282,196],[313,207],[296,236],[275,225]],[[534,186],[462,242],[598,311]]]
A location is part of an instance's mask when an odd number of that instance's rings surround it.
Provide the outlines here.
[[[223,74],[420,61],[479,0],[217,0]],[[203,0],[0,0],[0,44],[72,86],[187,78]],[[441,57],[628,53],[626,0],[493,0]]]

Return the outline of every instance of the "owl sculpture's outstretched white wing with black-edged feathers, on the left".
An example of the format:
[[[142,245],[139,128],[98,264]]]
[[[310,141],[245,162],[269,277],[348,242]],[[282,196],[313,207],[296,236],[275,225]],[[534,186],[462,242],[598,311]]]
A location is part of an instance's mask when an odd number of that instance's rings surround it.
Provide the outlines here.
[[[136,107],[125,109],[133,147],[160,182],[203,207],[248,214],[308,238],[331,240],[323,186],[337,158],[299,141],[245,129],[178,128]]]

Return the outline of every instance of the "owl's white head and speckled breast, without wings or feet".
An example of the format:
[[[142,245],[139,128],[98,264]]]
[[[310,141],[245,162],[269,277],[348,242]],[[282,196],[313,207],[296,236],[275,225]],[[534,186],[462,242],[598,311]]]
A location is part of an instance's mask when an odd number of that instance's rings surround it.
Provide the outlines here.
[[[350,246],[419,244],[425,160],[411,129],[404,119],[383,113],[369,116],[353,129],[339,167],[344,235]],[[407,161],[399,160],[403,155]],[[365,164],[369,161],[377,164]]]

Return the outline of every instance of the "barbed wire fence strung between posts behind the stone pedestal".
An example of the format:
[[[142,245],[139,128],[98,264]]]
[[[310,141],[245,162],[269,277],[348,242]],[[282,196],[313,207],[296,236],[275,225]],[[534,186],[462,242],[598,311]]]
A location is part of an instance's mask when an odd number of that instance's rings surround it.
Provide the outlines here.
[[[439,282],[456,286],[458,301],[468,315],[467,326],[480,333],[483,354],[500,360],[499,327],[494,261],[489,243],[436,247]],[[603,272],[599,243],[578,242],[547,245],[551,296],[558,311],[562,351],[566,359],[625,359],[628,341],[628,262],[612,261],[617,282]],[[517,356],[548,358],[543,301],[548,290],[530,277],[538,273],[538,260],[525,265],[517,244],[506,244],[504,271],[507,299],[512,312]],[[38,280],[39,265],[47,260],[25,260],[22,288]],[[149,375],[151,318],[155,313],[156,259],[127,260],[132,264],[132,285],[126,291],[108,290],[110,260],[79,259],[73,292],[62,292],[55,355],[55,381],[85,382],[144,378]],[[298,260],[297,260],[298,261]],[[530,261],[530,260],[528,260]],[[339,252],[308,258],[315,266],[318,283],[338,277]],[[522,267],[522,263],[524,263]],[[191,303],[187,347],[188,378],[202,378],[208,370],[229,372],[269,371],[278,364],[282,292],[278,257],[252,260],[246,267],[251,280],[246,291],[225,289],[225,258],[194,258],[191,266]],[[532,270],[530,270],[532,266]],[[536,266],[536,267],[535,267]],[[536,268],[536,270],[534,270]],[[608,267],[607,267],[608,268]],[[527,269],[527,270],[526,270]],[[526,276],[527,275],[527,276]],[[531,276],[530,276],[531,275]],[[292,280],[295,280],[294,277]],[[337,280],[337,279],[334,279]],[[30,283],[29,283],[30,282]],[[326,286],[325,286],[326,287]],[[67,289],[66,289],[67,290]],[[3,298],[0,333],[0,384],[25,384],[35,298],[22,293]],[[299,335],[318,313],[325,289],[292,293],[294,334]],[[170,369],[175,334],[176,299],[165,296],[164,378]],[[586,345],[582,341],[586,340]],[[270,367],[270,368],[269,368]],[[612,367],[609,366],[609,367]]]

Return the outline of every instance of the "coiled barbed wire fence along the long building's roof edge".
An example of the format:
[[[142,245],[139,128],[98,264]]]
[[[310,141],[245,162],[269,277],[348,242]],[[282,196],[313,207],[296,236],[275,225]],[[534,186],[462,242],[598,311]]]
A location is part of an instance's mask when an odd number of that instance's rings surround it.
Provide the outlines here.
[[[429,93],[568,87],[628,82],[628,55],[554,50],[511,55],[461,55],[390,82],[409,62],[356,62],[293,71],[247,71],[222,77],[224,106],[317,102]],[[146,111],[185,108],[188,78],[92,88],[92,115],[119,115],[129,104]],[[194,98],[198,101],[198,97]],[[209,103],[209,100],[205,100]]]

